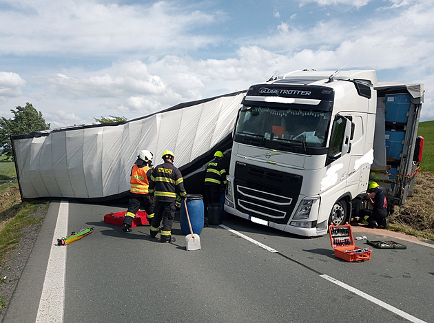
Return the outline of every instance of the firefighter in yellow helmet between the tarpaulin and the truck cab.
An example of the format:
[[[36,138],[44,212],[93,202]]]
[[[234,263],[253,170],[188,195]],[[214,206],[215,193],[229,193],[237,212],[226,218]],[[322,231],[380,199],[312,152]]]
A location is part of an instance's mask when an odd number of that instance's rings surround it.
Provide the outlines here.
[[[205,172],[205,194],[203,202],[205,205],[205,218],[208,214],[208,207],[211,203],[220,202],[220,192],[224,192],[226,188],[226,169],[223,165],[223,152],[218,150],[214,154],[214,159],[208,163],[207,171]],[[207,220],[205,219],[205,224]]]

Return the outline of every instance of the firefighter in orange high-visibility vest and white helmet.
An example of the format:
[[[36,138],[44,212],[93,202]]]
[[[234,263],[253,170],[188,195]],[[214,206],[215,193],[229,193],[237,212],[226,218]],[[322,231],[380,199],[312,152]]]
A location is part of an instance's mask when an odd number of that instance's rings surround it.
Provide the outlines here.
[[[128,210],[125,213],[122,229],[125,232],[132,231],[132,222],[138,209],[145,209],[147,220],[150,223],[154,217],[154,201],[149,196],[149,178],[152,172],[152,158],[154,155],[149,150],[141,150],[138,153],[136,163],[131,170],[131,189]]]

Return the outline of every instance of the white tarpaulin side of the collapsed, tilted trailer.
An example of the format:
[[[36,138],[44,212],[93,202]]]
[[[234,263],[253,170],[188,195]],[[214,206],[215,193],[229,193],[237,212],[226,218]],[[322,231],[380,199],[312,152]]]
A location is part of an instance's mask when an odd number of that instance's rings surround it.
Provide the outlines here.
[[[130,171],[142,149],[154,154],[154,165],[162,162],[166,149],[172,150],[174,165],[185,169],[185,177],[207,163],[214,149],[223,149],[244,95],[182,103],[123,123],[12,136],[21,198],[123,196],[130,190]]]

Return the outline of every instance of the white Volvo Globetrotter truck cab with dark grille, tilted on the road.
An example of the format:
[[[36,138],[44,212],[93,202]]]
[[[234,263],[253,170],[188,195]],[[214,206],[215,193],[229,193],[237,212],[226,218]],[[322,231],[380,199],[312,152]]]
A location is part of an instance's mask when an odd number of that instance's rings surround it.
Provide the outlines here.
[[[225,211],[301,236],[349,221],[366,192],[373,70],[296,71],[252,85],[234,129]]]

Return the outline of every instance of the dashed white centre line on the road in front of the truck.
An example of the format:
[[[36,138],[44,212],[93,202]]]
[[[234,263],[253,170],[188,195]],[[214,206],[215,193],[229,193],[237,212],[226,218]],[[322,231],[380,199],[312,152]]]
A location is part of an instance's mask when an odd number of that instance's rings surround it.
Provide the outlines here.
[[[268,247],[267,245],[262,244],[262,243],[254,240],[252,238],[249,238],[248,236],[245,236],[244,234],[242,234],[242,233],[240,233],[234,229],[226,227],[225,225],[220,225],[220,227],[223,227],[224,229],[231,231],[231,233],[235,233],[237,236],[240,236],[241,238],[245,238],[246,240],[262,247],[265,250],[281,254],[276,249]],[[311,269],[311,270],[314,271],[313,269]],[[359,291],[358,289],[355,289],[354,287],[349,286],[349,285],[345,284],[344,282],[340,282],[340,280],[336,280],[335,278],[330,277],[329,275],[321,274],[320,277],[324,278],[325,280],[329,280],[329,282],[333,282],[333,284],[337,284],[338,286],[341,286],[342,288],[347,289],[348,291],[351,291],[352,293],[355,293],[356,295],[359,295],[360,297],[364,298],[365,300],[369,300],[370,302],[373,302],[375,305],[382,306],[384,309],[391,311],[392,313],[395,313],[396,315],[400,315],[401,317],[404,317],[406,320],[409,320],[410,322],[426,323],[425,321],[420,320],[417,317],[410,315],[409,313],[406,313],[404,311],[401,311],[400,309],[397,309],[395,306],[389,305],[389,304],[383,302],[382,300],[378,300],[378,298],[374,298],[371,295],[368,295],[362,291]]]

